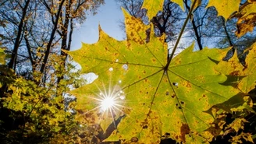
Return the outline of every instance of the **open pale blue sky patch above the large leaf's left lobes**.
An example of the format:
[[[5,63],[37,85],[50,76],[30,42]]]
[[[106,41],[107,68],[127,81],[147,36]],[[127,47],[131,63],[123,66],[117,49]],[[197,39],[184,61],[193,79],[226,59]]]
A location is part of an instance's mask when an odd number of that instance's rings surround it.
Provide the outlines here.
[[[98,41],[98,25],[108,33],[110,37],[116,40],[123,40],[125,33],[120,28],[120,22],[123,21],[123,12],[115,0],[105,0],[105,5],[101,5],[98,14],[87,16],[86,21],[78,26],[73,32],[73,44],[71,51],[79,49],[82,42],[93,44]]]

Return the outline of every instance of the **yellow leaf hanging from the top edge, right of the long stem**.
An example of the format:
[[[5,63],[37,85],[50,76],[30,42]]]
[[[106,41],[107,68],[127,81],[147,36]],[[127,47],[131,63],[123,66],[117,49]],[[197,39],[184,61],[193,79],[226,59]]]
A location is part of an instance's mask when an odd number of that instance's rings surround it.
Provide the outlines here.
[[[218,16],[228,19],[233,12],[239,10],[240,0],[210,0],[207,7],[214,6],[218,12]]]

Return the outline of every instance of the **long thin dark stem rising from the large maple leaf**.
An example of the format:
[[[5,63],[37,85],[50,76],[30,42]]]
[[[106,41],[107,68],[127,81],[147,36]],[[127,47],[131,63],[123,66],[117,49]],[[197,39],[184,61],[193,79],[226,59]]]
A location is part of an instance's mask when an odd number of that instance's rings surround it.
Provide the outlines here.
[[[183,24],[183,26],[182,26],[182,28],[180,30],[180,35],[179,35],[178,39],[176,40],[176,44],[173,47],[172,54],[170,55],[170,57],[169,57],[169,59],[167,61],[167,64],[165,65],[165,70],[167,70],[167,68],[169,67],[169,65],[170,65],[170,63],[172,61],[174,53],[175,53],[175,51],[176,51],[176,49],[178,47],[178,44],[180,43],[180,38],[181,38],[181,36],[183,34],[183,31],[185,30],[185,27],[187,26],[188,19],[190,19],[190,16],[192,15],[192,12],[194,10],[194,5],[196,4],[196,2],[197,2],[197,0],[194,0],[193,4],[191,6],[190,12],[188,13],[187,18],[186,18],[186,20],[185,20],[185,22],[184,22],[184,24]]]

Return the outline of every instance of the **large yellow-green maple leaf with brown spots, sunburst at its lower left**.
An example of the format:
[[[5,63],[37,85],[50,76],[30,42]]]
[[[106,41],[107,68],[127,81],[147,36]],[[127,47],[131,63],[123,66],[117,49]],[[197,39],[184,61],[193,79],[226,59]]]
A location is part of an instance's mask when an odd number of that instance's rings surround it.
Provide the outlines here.
[[[169,132],[177,142],[211,141],[213,135],[205,130],[214,119],[204,111],[240,92],[219,84],[228,77],[215,69],[229,49],[193,51],[191,45],[168,63],[165,36],[155,37],[152,28],[148,35],[145,31],[149,26],[124,13],[127,40],[117,41],[100,29],[98,43],[83,44],[80,50],[69,52],[82,66],[82,72],[98,75],[94,83],[71,92],[77,97],[80,120],[91,118],[109,125],[111,121],[105,121],[108,117],[99,116],[101,93],[118,95],[122,91],[125,100],[116,97],[122,105],[116,104],[119,111],[109,112],[114,113],[113,118],[126,117],[108,140],[128,142],[136,138],[159,143]]]

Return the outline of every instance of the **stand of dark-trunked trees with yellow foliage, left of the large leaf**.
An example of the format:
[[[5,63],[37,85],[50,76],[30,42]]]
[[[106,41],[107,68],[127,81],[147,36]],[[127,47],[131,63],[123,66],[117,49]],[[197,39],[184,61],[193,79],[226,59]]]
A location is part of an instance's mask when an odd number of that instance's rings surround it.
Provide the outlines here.
[[[81,139],[73,135],[80,125],[69,106],[75,99],[64,95],[70,86],[80,85],[80,73],[70,72],[75,67],[62,50],[70,50],[74,24],[83,23],[87,13],[95,14],[102,4],[103,0],[0,2],[1,47],[9,55],[6,65],[0,65],[1,142],[57,142],[60,135],[59,143]]]

